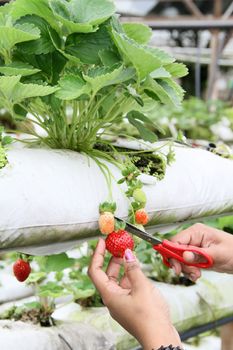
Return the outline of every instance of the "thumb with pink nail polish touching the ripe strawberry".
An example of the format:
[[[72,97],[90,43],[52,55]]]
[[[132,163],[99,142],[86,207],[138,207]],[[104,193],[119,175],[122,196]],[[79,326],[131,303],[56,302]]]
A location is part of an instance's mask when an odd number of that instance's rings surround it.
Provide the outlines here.
[[[125,275],[130,281],[132,289],[135,291],[138,288],[143,288],[147,278],[142,272],[136,256],[130,249],[126,249],[124,254],[124,268]]]

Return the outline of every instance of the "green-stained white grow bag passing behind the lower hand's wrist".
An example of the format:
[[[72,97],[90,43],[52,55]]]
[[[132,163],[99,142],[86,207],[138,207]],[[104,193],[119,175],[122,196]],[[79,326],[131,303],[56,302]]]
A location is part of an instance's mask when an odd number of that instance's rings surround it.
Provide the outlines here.
[[[233,315],[232,275],[203,271],[203,277],[189,287],[153,283],[169,303],[173,324],[179,332]],[[112,337],[117,339],[117,350],[136,346],[136,340],[111,318],[107,308],[89,308],[83,311],[76,311],[76,308],[76,304],[73,304],[73,310],[67,306],[60,308],[53,318],[88,324],[102,334],[111,332]]]

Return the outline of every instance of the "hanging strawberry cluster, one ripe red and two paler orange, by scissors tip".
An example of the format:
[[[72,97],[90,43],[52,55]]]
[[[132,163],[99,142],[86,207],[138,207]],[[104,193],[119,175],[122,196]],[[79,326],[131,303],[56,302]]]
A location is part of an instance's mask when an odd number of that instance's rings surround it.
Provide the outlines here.
[[[126,249],[134,249],[132,236],[125,231],[114,218],[116,210],[115,203],[103,203],[100,205],[99,229],[104,235],[106,249],[115,257],[123,258]],[[135,212],[135,221],[138,225],[148,223],[148,215],[145,209],[138,209]]]

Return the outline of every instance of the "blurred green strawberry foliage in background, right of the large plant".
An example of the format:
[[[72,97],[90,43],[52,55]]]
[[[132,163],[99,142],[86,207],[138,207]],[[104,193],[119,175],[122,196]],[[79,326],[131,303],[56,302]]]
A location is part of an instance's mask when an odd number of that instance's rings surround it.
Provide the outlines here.
[[[219,135],[215,134],[215,124],[222,124],[230,129],[233,127],[233,109],[232,106],[224,101],[204,101],[198,98],[190,97],[184,100],[182,105],[171,107],[169,105],[157,104],[146,100],[143,107],[139,108],[142,113],[150,115],[150,119],[160,126],[158,136],[176,137],[179,131],[182,131],[185,137],[190,139],[203,139],[208,141],[218,141]],[[153,126],[149,126],[151,131],[155,131]],[[128,134],[132,137],[139,137],[129,123],[122,122],[111,127],[113,133]]]

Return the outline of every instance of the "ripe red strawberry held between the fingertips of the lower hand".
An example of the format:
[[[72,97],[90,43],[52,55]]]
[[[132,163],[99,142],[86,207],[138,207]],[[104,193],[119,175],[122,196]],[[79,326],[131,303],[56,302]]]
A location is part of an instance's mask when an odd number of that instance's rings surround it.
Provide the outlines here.
[[[107,250],[115,257],[123,258],[125,250],[134,248],[134,241],[131,235],[124,230],[110,233],[105,240]]]

